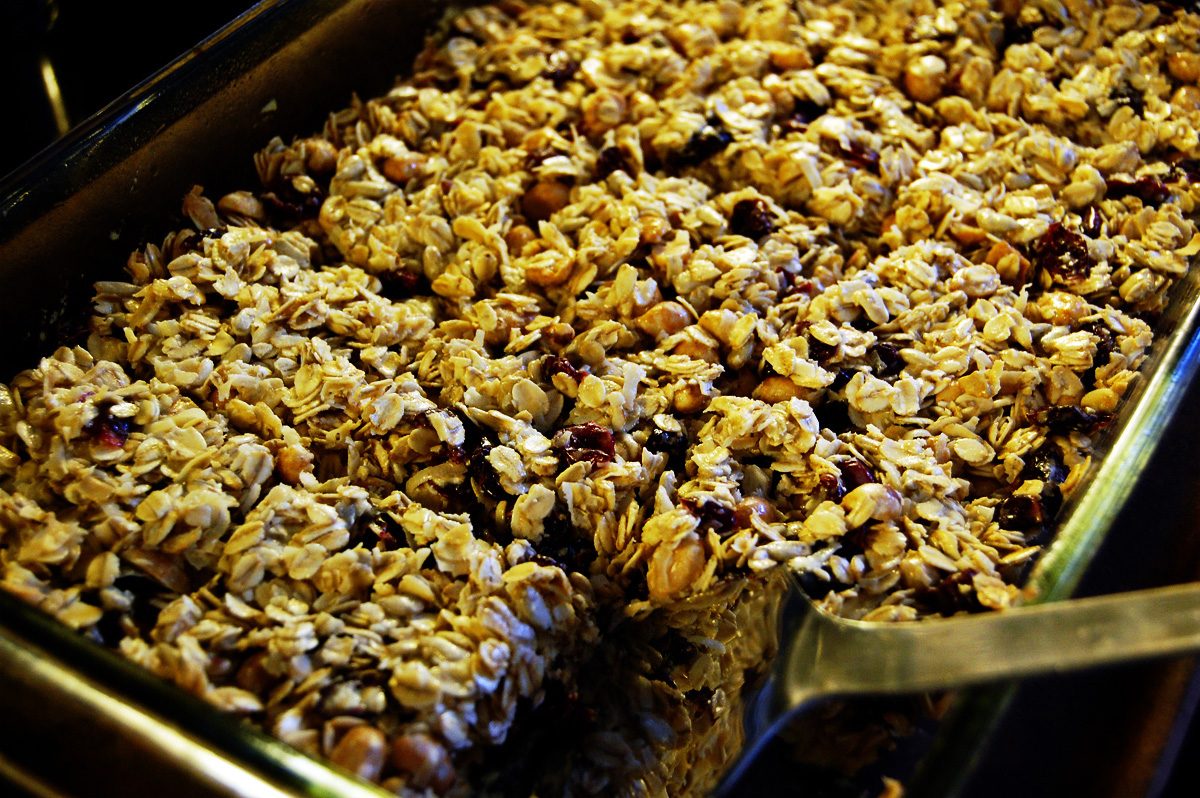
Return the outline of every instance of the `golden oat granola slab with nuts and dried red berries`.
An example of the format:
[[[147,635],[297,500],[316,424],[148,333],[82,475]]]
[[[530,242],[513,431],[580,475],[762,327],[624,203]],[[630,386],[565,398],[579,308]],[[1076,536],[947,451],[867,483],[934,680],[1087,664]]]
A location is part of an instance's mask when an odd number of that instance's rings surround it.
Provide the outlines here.
[[[455,13],[0,392],[0,584],[400,794],[704,794],[785,570],[1014,599],[1200,252],[1198,37]]]

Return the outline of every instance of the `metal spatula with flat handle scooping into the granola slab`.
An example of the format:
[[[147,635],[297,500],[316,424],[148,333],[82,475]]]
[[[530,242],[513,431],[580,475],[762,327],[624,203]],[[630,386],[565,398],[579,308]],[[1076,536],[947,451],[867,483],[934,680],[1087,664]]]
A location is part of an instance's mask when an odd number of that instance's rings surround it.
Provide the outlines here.
[[[896,695],[1200,652],[1200,583],[913,623],[835,618],[793,590],[784,641],[746,704],[728,796],[764,744],[823,698]]]

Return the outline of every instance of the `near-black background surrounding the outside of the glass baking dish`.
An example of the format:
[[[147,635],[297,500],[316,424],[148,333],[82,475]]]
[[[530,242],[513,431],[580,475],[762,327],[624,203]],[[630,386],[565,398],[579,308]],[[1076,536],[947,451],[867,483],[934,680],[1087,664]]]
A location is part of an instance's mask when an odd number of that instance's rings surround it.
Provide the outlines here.
[[[56,137],[40,64],[53,66],[68,119],[77,124],[250,5],[245,0],[0,0],[0,76],[8,120],[6,142],[0,143],[0,175]],[[247,157],[253,146],[247,144]],[[1200,401],[1200,391],[1193,390],[1190,401]],[[1184,419],[1176,427],[1157,463],[1160,476],[1151,480],[1154,485],[1142,491],[1139,504],[1127,514],[1124,523],[1130,529],[1115,535],[1102,551],[1084,593],[1200,577],[1194,503],[1160,510],[1164,494],[1200,496],[1194,464],[1200,421]],[[1180,532],[1169,538],[1165,550],[1139,546],[1136,527],[1147,522]],[[1169,698],[1162,700],[1163,695]],[[1030,682],[962,794],[1200,796],[1200,724],[1192,724],[1188,732],[1186,722],[1198,700],[1190,662]],[[1177,757],[1171,756],[1174,750],[1180,751]],[[0,778],[0,793],[14,792]]]

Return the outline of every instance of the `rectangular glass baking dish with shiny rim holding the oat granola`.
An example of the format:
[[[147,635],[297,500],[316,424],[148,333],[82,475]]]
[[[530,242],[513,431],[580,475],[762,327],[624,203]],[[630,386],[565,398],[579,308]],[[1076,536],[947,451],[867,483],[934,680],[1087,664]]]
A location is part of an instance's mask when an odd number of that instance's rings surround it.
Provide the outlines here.
[[[265,0],[76,128],[0,185],[0,319],[7,379],[68,342],[92,282],[178,220],[179,198],[256,184],[253,151],[320,127],[352,92],[403,73],[445,4]],[[1110,431],[1108,455],[1060,515],[1027,601],[1069,596],[1181,412],[1200,353],[1195,270],[1158,324],[1160,346]],[[1141,530],[1145,534],[1145,530]],[[910,794],[947,794],[1010,686],[964,691],[923,751]],[[0,774],[30,790],[126,796],[379,796],[377,787],[221,715],[0,594]],[[19,730],[19,734],[17,734]],[[70,737],[68,737],[70,736]],[[61,745],[72,739],[71,768]],[[38,787],[42,785],[42,787]],[[103,785],[103,788],[97,788]]]

